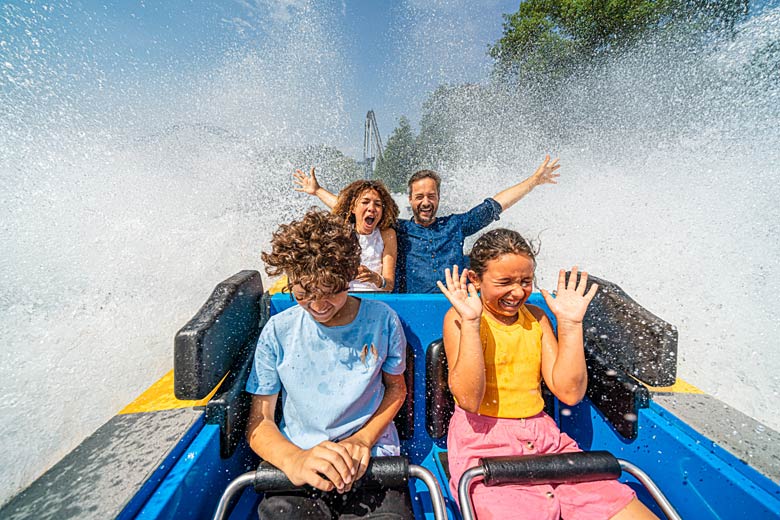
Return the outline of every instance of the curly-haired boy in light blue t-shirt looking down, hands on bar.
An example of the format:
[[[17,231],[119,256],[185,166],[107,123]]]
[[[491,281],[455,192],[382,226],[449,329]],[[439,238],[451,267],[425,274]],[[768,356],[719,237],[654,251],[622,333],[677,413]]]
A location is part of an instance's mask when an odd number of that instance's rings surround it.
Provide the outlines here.
[[[287,275],[298,305],[271,317],[257,341],[247,439],[294,484],[315,489],[267,493],[259,517],[412,518],[405,493],[352,490],[370,457],[400,453],[393,417],[406,398],[398,316],[347,294],[360,265],[357,236],[338,217],[311,210],[280,226],[271,245],[262,254],[266,271]]]

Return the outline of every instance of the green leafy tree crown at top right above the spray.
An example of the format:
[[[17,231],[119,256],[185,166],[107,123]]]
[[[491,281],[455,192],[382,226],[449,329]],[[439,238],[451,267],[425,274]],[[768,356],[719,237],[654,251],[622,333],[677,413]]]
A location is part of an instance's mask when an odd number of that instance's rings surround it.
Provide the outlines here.
[[[500,77],[558,79],[648,33],[733,29],[749,0],[524,0],[490,48]]]

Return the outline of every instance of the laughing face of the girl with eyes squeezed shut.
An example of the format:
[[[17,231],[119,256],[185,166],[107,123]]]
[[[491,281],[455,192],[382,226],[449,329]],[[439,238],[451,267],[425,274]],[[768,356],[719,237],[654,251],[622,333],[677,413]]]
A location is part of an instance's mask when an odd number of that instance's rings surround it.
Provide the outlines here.
[[[509,253],[488,261],[481,278],[476,279],[473,272],[469,275],[480,291],[484,310],[509,325],[534,290],[534,268],[530,257]]]

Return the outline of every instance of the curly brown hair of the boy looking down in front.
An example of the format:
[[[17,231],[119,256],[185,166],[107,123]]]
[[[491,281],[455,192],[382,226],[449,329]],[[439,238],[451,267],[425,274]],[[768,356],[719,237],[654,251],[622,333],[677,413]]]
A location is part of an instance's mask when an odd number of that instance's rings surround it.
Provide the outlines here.
[[[310,209],[301,220],[282,224],[263,252],[265,271],[286,274],[288,288],[299,284],[307,297],[322,298],[347,290],[358,273],[357,234],[331,213]]]

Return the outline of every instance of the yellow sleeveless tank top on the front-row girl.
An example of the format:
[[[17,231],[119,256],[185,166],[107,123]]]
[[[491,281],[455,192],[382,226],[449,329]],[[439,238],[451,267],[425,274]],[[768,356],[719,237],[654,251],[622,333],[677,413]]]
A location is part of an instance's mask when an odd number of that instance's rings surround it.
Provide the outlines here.
[[[485,397],[480,415],[518,419],[544,409],[542,327],[523,305],[512,325],[482,313],[479,335],[485,356]]]

